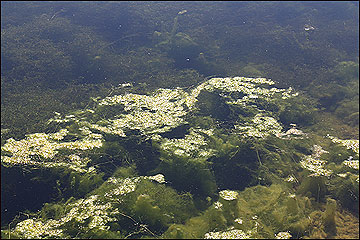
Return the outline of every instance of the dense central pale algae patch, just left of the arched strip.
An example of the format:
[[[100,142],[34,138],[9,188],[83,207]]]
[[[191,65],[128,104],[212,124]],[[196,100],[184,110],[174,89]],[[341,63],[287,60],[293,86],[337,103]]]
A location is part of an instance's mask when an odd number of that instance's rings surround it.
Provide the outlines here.
[[[187,96],[181,89],[159,89],[151,96],[131,93],[107,97],[99,102],[99,106],[124,106],[124,113],[109,120],[105,126],[119,131],[120,136],[125,136],[124,129],[140,130],[143,134],[162,133],[185,123],[182,117],[187,114]],[[91,127],[96,128],[96,125]]]

